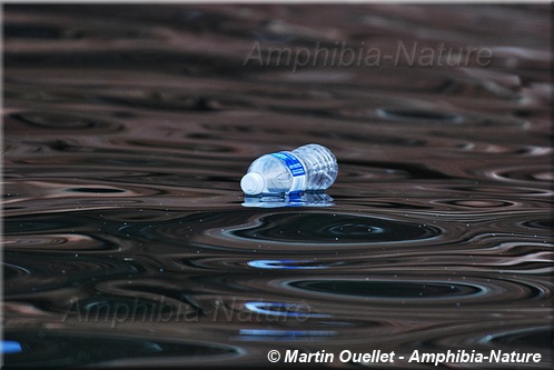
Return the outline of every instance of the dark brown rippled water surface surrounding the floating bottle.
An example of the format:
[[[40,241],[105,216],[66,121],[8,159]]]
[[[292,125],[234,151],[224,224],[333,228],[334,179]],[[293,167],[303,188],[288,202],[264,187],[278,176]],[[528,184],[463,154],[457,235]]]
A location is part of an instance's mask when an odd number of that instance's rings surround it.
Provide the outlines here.
[[[8,367],[266,367],[273,349],[552,366],[548,6],[12,4],[3,21]],[[343,41],[494,58],[243,63],[255,42]],[[338,159],[332,201],[243,204],[255,158],[308,142]]]

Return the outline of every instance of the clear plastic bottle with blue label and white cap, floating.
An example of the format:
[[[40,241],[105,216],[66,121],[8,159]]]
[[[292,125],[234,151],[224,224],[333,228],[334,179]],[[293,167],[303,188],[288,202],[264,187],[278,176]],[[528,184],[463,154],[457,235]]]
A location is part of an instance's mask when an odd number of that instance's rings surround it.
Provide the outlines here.
[[[319,144],[265,154],[240,180],[247,196],[325,190],[337,178],[337,159]]]

